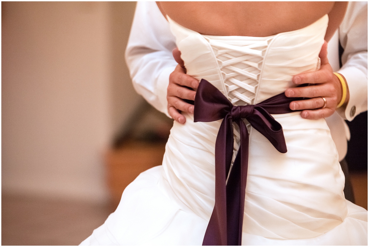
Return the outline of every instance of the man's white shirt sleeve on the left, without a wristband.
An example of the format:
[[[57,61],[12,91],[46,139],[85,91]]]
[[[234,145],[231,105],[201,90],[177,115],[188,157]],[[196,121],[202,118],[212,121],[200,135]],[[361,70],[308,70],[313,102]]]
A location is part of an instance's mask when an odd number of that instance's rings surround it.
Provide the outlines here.
[[[168,117],[169,75],[177,65],[175,37],[155,2],[137,2],[125,60],[135,90]]]

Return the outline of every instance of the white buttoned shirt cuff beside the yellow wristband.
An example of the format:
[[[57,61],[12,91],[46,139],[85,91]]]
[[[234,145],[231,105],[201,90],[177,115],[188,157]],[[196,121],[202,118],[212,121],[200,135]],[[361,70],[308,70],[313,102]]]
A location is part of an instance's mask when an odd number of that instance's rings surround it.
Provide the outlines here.
[[[347,82],[350,99],[347,106],[337,109],[338,114],[349,121],[352,121],[358,114],[368,110],[368,79],[360,69],[346,67],[338,71]]]

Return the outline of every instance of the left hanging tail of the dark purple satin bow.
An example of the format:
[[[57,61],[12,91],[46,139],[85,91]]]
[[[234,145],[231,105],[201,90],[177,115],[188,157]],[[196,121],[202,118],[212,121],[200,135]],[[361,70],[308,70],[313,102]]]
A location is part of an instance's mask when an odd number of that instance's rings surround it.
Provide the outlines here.
[[[215,142],[215,205],[203,245],[227,245],[227,195],[225,181],[233,155],[232,117],[223,119]]]

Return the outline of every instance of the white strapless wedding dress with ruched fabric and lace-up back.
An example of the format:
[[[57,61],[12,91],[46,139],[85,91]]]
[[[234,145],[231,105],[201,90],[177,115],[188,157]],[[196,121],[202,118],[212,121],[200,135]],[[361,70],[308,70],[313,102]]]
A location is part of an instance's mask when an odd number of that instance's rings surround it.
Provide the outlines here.
[[[187,73],[234,105],[256,104],[314,71],[328,16],[270,37],[201,35],[169,19]],[[345,200],[344,174],[324,119],[274,114],[287,153],[248,124],[242,245],[367,245],[368,212]],[[222,120],[174,122],[163,164],[142,172],[81,245],[201,245],[214,207],[215,139]],[[246,122],[247,123],[247,122]],[[235,128],[234,154],[239,147]],[[235,155],[234,155],[235,157]]]

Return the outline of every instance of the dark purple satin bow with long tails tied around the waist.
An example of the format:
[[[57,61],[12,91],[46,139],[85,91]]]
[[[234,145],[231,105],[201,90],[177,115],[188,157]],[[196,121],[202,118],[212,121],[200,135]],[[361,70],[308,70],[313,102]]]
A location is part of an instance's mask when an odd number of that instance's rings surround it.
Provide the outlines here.
[[[294,112],[289,103],[300,99],[281,93],[255,105],[234,106],[215,86],[201,79],[194,103],[194,122],[223,119],[215,142],[215,206],[203,245],[241,245],[249,149],[249,134],[242,119],[247,119],[279,152],[285,153],[282,126],[270,114]],[[241,144],[226,185],[233,156],[232,121],[239,126]]]

